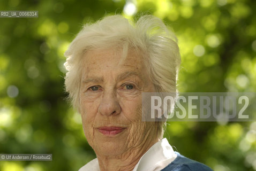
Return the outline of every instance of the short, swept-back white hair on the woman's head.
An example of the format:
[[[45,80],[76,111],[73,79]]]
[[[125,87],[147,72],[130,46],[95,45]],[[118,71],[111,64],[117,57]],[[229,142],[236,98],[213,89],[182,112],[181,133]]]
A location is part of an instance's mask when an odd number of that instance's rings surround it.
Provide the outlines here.
[[[176,92],[180,54],[174,33],[152,15],[144,15],[135,23],[112,15],[82,27],[65,52],[65,88],[79,112],[82,57],[90,49],[118,47],[123,48],[124,56],[131,48],[140,51],[157,92]]]

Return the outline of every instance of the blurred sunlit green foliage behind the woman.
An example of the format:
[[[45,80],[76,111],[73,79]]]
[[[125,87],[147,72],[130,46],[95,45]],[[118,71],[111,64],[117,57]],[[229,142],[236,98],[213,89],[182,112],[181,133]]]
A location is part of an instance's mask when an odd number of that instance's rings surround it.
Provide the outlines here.
[[[0,10],[39,11],[0,18],[0,153],[53,156],[0,161],[0,170],[78,170],[95,158],[80,115],[65,102],[63,53],[83,24],[115,13],[133,18],[124,13],[129,2],[176,33],[179,91],[255,92],[254,0],[0,1]],[[165,137],[216,171],[256,170],[256,122],[169,122]]]

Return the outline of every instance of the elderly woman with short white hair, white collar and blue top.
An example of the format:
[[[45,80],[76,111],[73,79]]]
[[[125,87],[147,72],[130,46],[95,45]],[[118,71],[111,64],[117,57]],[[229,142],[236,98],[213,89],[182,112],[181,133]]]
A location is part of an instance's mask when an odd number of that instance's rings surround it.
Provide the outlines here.
[[[85,170],[211,170],[174,152],[164,122],[142,121],[142,92],[176,92],[176,37],[152,16],[85,25],[65,52],[66,91],[97,158]]]

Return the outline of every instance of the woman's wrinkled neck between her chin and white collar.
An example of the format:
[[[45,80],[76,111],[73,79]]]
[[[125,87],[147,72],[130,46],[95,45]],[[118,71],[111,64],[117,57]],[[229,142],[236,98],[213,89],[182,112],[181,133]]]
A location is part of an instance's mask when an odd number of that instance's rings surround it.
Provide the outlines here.
[[[144,143],[128,149],[118,156],[101,156],[97,155],[100,170],[118,170],[132,171],[139,162],[140,158],[153,146],[159,139],[146,139]],[[150,143],[147,143],[150,142]]]

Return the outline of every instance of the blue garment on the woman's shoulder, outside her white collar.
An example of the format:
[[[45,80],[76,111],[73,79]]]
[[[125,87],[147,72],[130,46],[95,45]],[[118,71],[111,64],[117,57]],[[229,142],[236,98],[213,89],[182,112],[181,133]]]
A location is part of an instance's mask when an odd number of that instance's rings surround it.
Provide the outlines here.
[[[177,158],[161,171],[213,171],[211,168],[198,161],[186,158],[178,152],[175,153],[177,154]]]

